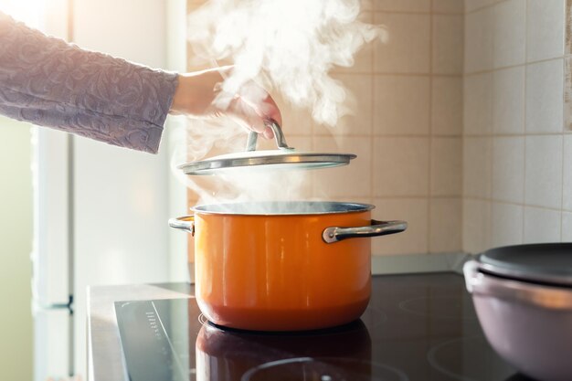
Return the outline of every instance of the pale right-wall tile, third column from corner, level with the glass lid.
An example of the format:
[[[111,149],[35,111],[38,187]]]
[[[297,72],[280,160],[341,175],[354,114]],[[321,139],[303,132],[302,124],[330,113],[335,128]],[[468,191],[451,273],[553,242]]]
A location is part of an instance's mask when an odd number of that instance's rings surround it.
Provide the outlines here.
[[[562,206],[562,136],[527,136],[524,203],[559,209]]]

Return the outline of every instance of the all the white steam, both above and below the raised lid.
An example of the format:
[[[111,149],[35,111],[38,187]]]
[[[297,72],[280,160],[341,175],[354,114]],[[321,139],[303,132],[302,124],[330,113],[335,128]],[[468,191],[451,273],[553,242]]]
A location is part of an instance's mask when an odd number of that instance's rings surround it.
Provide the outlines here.
[[[274,99],[306,110],[314,122],[335,128],[347,113],[343,84],[333,79],[335,67],[350,67],[355,53],[373,39],[386,37],[380,26],[358,19],[359,0],[210,0],[188,16],[189,66],[233,64],[222,84],[217,107],[228,94],[244,93],[254,79]],[[249,94],[256,99],[256,94]],[[185,147],[176,164],[244,150],[247,133],[230,119],[190,120],[179,130]],[[288,138],[288,126],[285,126]],[[287,139],[288,140],[288,139]],[[260,139],[262,141],[262,139]],[[295,144],[291,144],[294,145]],[[273,147],[276,148],[276,147]],[[311,198],[312,171],[245,170],[179,179],[201,204]]]

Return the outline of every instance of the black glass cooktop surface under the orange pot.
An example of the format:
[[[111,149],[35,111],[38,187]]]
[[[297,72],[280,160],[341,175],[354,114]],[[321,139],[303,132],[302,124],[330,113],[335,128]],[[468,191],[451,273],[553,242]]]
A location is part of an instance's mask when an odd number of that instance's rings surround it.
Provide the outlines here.
[[[361,319],[306,333],[208,323],[196,301],[116,302],[132,381],[529,381],[493,352],[460,275],[375,276]],[[192,288],[191,288],[192,291]]]

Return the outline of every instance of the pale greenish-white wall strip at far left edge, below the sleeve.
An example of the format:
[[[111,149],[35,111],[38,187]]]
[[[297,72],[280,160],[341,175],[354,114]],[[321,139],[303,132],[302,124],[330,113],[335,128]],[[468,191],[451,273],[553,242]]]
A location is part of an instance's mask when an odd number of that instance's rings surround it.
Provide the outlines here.
[[[30,124],[0,117],[0,379],[32,379]]]

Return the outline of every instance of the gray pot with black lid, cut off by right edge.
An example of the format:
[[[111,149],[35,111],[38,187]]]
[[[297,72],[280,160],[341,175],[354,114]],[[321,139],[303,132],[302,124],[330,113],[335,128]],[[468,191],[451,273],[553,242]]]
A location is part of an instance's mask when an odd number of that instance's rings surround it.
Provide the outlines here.
[[[572,380],[572,244],[492,249],[463,271],[494,350],[524,375]]]

